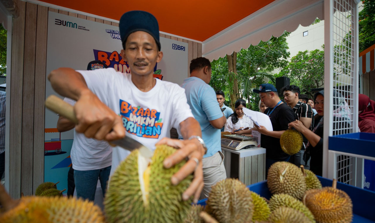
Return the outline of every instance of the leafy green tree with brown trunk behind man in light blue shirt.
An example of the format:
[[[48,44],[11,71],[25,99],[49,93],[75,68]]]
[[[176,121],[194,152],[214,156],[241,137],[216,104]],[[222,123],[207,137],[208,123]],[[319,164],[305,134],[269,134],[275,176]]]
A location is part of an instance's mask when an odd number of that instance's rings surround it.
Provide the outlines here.
[[[241,49],[238,53],[234,52],[213,61],[209,84],[214,90],[230,94],[229,102],[232,108],[239,98],[247,99],[252,109],[258,108],[258,104],[253,105],[257,94],[254,94],[252,89],[264,82],[274,82],[272,71],[287,66],[290,53],[286,37],[289,34],[285,32],[280,37],[272,37],[266,42],[260,41],[256,46],[251,45],[248,49]]]

